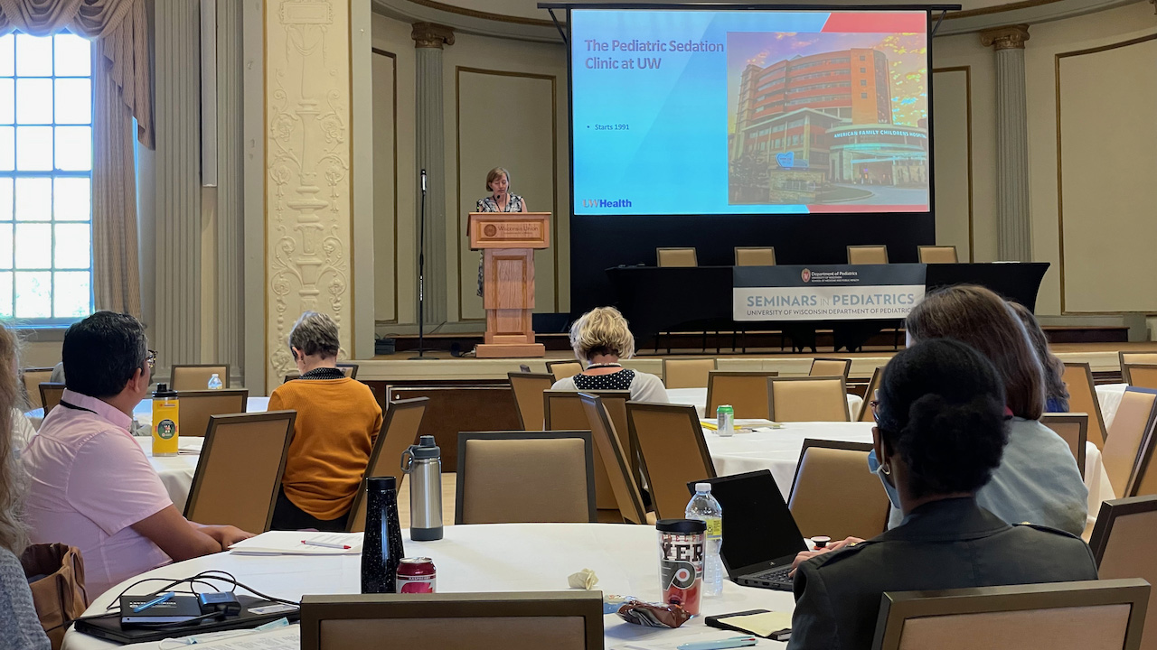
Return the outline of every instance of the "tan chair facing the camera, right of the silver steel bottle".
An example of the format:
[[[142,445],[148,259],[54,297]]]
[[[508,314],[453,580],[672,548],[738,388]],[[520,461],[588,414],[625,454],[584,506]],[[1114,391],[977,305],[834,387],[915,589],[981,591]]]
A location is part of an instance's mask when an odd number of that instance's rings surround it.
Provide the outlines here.
[[[455,524],[596,522],[590,431],[460,431]]]

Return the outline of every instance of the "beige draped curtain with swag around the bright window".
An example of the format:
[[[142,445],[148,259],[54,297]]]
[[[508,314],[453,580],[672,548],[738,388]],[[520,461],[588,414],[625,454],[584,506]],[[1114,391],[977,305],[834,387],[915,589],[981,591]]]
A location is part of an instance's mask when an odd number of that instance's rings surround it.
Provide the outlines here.
[[[97,309],[140,316],[137,139],[153,148],[146,0],[0,0],[0,35],[93,39],[93,294]]]

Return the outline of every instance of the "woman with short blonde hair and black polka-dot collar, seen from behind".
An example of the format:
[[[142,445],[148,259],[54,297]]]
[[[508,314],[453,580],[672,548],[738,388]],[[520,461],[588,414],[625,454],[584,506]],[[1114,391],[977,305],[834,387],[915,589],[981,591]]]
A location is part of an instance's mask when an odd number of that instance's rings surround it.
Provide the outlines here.
[[[566,379],[559,379],[557,391],[631,391],[634,401],[666,402],[666,389],[655,375],[629,370],[619,365],[620,359],[635,354],[635,338],[627,328],[627,319],[613,306],[598,306],[582,315],[570,325],[570,347],[587,369]]]

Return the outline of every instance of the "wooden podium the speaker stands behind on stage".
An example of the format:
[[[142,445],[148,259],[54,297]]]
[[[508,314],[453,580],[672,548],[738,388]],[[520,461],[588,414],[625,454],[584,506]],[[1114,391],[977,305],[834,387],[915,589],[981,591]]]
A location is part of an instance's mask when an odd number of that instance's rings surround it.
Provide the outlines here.
[[[535,249],[551,242],[548,212],[472,212],[470,248],[482,251],[486,339],[478,359],[545,356],[535,342]]]

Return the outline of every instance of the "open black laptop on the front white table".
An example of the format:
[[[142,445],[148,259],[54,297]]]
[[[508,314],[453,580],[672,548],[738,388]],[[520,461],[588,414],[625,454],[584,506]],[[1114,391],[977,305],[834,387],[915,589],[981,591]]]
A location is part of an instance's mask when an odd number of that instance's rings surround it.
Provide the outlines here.
[[[791,561],[808,551],[799,526],[768,470],[695,482],[712,483],[723,507],[723,566],[744,586],[791,591]]]

